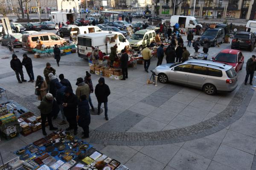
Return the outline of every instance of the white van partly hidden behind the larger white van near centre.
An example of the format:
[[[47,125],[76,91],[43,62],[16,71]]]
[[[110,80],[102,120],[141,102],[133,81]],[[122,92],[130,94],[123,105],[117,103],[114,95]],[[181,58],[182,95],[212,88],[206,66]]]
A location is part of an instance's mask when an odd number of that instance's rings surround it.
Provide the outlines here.
[[[88,34],[102,31],[98,26],[79,26],[74,27],[70,31],[70,38],[76,38],[79,34]]]

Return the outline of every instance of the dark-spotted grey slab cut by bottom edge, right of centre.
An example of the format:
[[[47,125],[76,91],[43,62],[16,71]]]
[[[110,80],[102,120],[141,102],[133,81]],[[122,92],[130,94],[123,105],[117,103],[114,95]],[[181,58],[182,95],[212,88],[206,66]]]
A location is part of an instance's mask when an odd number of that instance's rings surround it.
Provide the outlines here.
[[[207,170],[210,161],[210,159],[181,148],[168,165],[176,170]]]

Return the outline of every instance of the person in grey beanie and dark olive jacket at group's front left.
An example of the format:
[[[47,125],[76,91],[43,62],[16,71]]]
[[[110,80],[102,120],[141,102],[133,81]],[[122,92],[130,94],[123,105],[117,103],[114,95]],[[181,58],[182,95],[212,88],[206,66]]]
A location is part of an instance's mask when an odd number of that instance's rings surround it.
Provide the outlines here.
[[[47,133],[45,131],[45,122],[46,119],[48,121],[48,125],[50,127],[50,130],[57,130],[57,127],[53,127],[52,125],[52,107],[53,107],[53,96],[50,93],[47,93],[40,105],[38,106],[38,109],[40,110],[41,113],[41,119],[42,119],[42,131],[44,136],[47,136]]]

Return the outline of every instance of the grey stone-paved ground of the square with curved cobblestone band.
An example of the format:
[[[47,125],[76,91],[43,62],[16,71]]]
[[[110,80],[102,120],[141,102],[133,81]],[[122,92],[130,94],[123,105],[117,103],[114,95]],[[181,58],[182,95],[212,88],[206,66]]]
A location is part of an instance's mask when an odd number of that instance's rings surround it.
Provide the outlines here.
[[[209,58],[229,44],[210,48]],[[22,52],[18,49],[18,57]],[[189,51],[193,51],[189,48]],[[10,57],[0,47],[3,57]],[[243,51],[245,60],[252,53]],[[70,54],[61,58],[57,67],[53,58],[33,58],[35,77],[43,75],[46,62],[51,62],[57,74],[64,73],[76,89],[76,78],[84,77],[87,62]],[[1,57],[2,58],[2,57]],[[39,114],[39,102],[34,95],[33,83],[18,84],[9,68],[10,59],[0,59],[0,86],[8,89],[13,99]],[[156,60],[151,62],[151,69]],[[244,65],[245,67],[245,65]],[[23,70],[25,71],[25,70]],[[104,114],[91,115],[90,138],[96,149],[111,156],[131,170],[250,170],[256,151],[256,94],[250,86],[241,85],[245,70],[239,72],[239,87],[228,94],[208,96],[201,90],[175,84],[146,85],[151,75],[128,68],[127,81],[105,78],[111,88],[108,101],[109,121]],[[26,73],[25,77],[28,78]],[[95,87],[99,76],[92,75]],[[0,102],[5,97],[0,98]],[[96,98],[92,94],[93,105]],[[60,115],[59,115],[60,116]],[[59,117],[54,120],[58,125]],[[49,131],[48,131],[49,132]],[[79,128],[79,137],[81,129]],[[29,136],[18,136],[10,141],[1,139],[4,161],[14,157],[13,151],[42,137],[41,131]],[[4,149],[2,149],[4,148]]]

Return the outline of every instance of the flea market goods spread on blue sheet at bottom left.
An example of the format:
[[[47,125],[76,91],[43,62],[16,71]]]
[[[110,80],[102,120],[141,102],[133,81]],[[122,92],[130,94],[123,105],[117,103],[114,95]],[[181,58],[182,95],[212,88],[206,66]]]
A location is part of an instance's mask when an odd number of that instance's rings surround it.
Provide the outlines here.
[[[63,130],[20,148],[17,157],[0,166],[8,170],[129,170]]]

